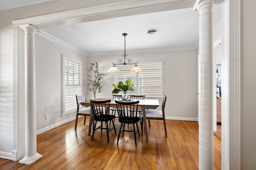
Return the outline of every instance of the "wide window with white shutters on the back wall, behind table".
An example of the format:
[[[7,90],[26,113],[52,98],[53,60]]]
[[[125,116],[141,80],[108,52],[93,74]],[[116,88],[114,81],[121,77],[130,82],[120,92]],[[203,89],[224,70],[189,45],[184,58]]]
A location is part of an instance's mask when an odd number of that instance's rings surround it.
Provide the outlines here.
[[[130,78],[134,84],[134,92],[129,91],[129,94],[145,94],[146,97],[162,98],[164,94],[163,65],[163,60],[140,61],[139,66],[142,72],[129,72],[134,65],[120,66],[118,67],[120,72],[116,72],[115,82],[125,82]]]

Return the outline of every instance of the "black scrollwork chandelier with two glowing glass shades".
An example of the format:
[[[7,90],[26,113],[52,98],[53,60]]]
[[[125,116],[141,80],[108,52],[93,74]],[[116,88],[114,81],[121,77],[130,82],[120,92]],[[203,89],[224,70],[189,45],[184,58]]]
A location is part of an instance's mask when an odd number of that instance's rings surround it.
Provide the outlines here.
[[[132,59],[128,59],[127,56],[128,54],[126,54],[126,48],[125,48],[125,37],[127,36],[127,33],[123,33],[122,34],[124,36],[124,54],[122,54],[123,58],[122,59],[118,59],[116,61],[116,63],[112,62],[113,66],[110,67],[108,69],[108,72],[119,72],[120,70],[116,67],[116,65],[126,65],[126,64],[135,64],[134,67],[132,67],[132,69],[130,70],[130,72],[141,72],[142,69],[137,66],[138,61],[136,61],[135,63],[132,61]]]

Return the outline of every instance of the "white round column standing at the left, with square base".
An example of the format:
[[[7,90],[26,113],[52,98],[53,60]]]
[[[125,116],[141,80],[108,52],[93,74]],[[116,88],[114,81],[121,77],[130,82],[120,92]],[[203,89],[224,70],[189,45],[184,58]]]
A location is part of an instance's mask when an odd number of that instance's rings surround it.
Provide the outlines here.
[[[32,25],[21,26],[25,32],[25,156],[19,162],[32,164],[42,158],[36,152],[36,79],[35,79],[35,33]]]

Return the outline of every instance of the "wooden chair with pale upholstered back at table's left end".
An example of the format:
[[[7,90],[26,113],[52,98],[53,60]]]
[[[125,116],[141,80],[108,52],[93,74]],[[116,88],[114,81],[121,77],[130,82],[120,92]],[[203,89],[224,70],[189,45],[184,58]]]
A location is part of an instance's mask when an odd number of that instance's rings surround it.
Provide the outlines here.
[[[86,94],[83,95],[76,95],[76,125],[75,125],[75,130],[77,127],[77,121],[78,121],[78,115],[82,115],[84,116],[84,125],[85,125],[85,121],[86,121],[86,116],[90,116],[90,111],[91,108],[90,107],[84,107],[80,104],[80,102],[82,101],[86,101]]]

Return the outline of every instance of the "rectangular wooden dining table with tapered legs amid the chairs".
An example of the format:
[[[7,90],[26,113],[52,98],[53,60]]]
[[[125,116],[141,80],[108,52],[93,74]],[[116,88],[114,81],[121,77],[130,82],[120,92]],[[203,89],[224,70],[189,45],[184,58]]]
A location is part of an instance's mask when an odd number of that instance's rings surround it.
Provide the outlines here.
[[[111,100],[108,107],[116,107],[116,102],[113,98],[96,98],[92,99],[94,101],[104,101],[104,100]],[[82,101],[80,102],[82,106],[91,106],[90,100]],[[147,129],[147,121],[146,121],[146,109],[156,109],[159,106],[159,102],[156,99],[140,99],[140,102],[138,103],[138,109],[142,109],[142,117],[144,121],[144,134],[146,136],[146,141],[148,142],[148,129]],[[88,135],[91,135],[91,129],[92,129],[92,122],[93,122],[93,113],[92,109],[90,111],[90,121],[89,121],[89,130]]]

